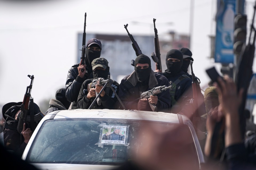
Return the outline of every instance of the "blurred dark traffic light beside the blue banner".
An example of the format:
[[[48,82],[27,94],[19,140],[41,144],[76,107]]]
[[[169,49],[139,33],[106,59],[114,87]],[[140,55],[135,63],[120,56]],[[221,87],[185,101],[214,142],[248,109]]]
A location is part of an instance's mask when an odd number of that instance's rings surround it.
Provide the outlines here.
[[[245,14],[237,14],[234,18],[234,53],[240,54],[243,43],[246,42],[246,25],[247,16]]]

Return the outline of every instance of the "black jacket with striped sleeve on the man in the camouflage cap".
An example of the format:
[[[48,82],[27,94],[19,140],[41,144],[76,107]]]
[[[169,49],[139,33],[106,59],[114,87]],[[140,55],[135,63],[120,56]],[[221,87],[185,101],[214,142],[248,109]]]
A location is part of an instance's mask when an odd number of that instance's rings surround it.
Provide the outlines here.
[[[90,84],[94,79],[88,79],[85,80],[82,84],[82,87],[80,89],[78,98],[77,98],[77,107],[78,109],[88,109],[91,105],[91,103],[93,103],[95,97],[92,97],[91,99],[87,98],[87,94],[88,94],[88,90],[87,90],[87,86],[88,84]],[[118,94],[119,91],[119,84],[118,82],[110,79],[110,84],[111,87],[115,90],[115,92]],[[115,94],[113,93],[113,91],[111,90],[110,87],[106,87],[104,89],[105,91],[105,96],[101,97],[99,96],[99,98],[101,99],[101,105],[97,104],[97,101],[94,103],[94,106],[92,107],[92,109],[114,109],[114,104],[117,101],[117,97],[115,96]]]

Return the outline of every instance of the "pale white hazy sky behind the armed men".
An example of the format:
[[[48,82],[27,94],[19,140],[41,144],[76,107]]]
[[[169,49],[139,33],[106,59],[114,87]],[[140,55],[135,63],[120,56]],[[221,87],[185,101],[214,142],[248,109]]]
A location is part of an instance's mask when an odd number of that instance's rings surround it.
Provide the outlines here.
[[[192,44],[193,71],[203,85],[209,81],[205,69],[219,64],[210,56],[209,35],[215,35],[217,0],[194,0]],[[254,1],[247,2],[248,19]],[[76,63],[77,34],[153,35],[153,18],[159,37],[167,32],[190,33],[190,0],[0,0],[0,105],[23,100],[34,75],[34,102],[55,98],[65,87],[67,72]],[[133,24],[133,21],[141,24]],[[173,22],[173,25],[164,23]],[[128,35],[127,35],[128,36]],[[104,57],[104,56],[102,56]],[[117,63],[119,64],[119,63]],[[255,64],[254,64],[255,68]],[[255,70],[255,69],[254,69]]]

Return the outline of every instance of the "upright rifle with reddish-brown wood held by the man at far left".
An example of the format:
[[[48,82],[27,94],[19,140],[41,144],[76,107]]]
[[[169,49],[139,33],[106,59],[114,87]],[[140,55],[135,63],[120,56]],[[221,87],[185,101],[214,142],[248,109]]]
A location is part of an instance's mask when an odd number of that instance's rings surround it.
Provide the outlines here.
[[[27,90],[26,90],[26,93],[24,95],[23,102],[21,105],[21,113],[20,113],[20,118],[19,118],[18,127],[17,127],[17,131],[19,133],[22,132],[23,124],[26,122],[26,117],[27,117],[27,112],[29,110],[30,100],[32,99],[32,101],[33,101],[33,98],[31,98],[31,89],[32,89],[32,85],[33,85],[34,75],[32,75],[32,76],[27,75],[27,76],[31,79],[31,82],[30,82],[30,85],[27,86]],[[34,115],[34,113],[33,113],[33,115]]]

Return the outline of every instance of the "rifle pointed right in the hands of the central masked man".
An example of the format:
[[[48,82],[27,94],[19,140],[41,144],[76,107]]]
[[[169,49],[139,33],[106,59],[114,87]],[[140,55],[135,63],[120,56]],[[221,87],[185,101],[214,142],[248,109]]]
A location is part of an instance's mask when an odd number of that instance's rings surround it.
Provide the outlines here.
[[[170,86],[158,86],[158,87],[154,87],[149,91],[143,92],[141,93],[141,97],[138,99],[148,99],[151,95],[156,96],[159,93],[162,93],[164,90],[170,89],[173,86],[171,85],[172,82],[170,81]],[[149,103],[150,108],[152,109],[152,111],[157,111],[157,106],[155,104]]]

